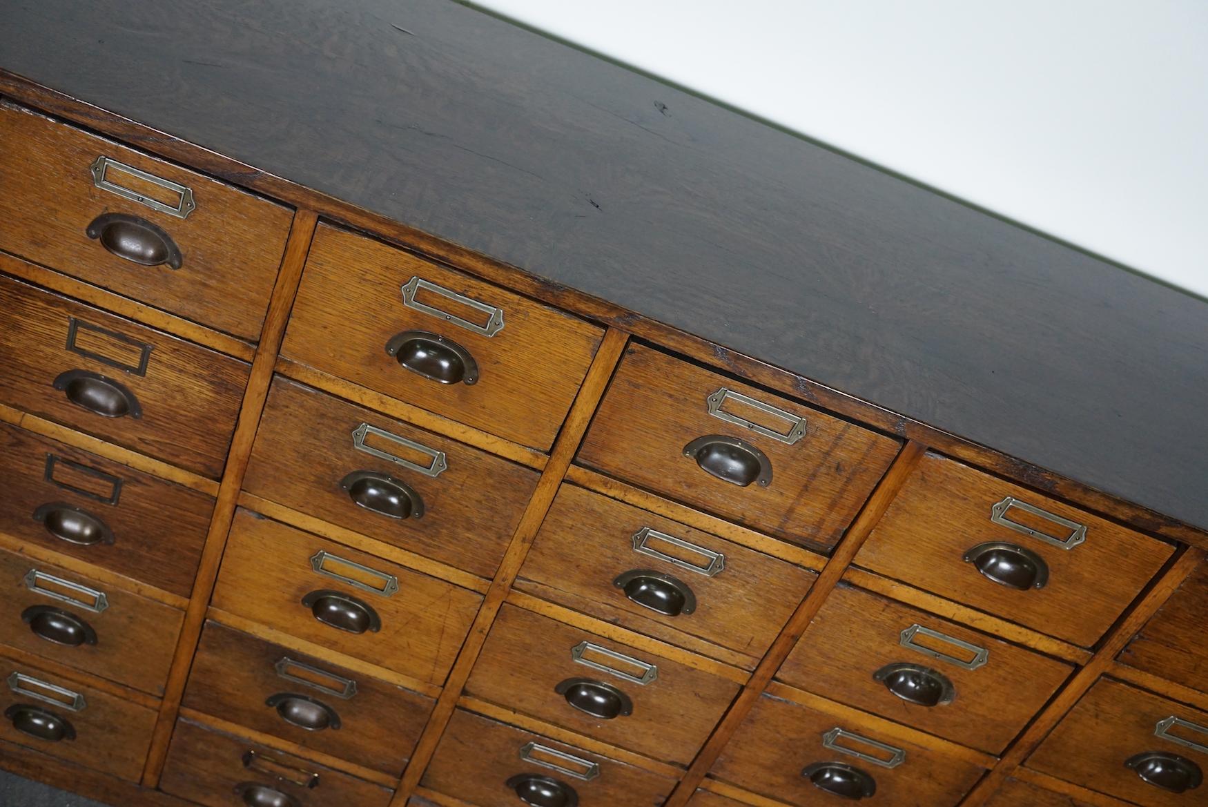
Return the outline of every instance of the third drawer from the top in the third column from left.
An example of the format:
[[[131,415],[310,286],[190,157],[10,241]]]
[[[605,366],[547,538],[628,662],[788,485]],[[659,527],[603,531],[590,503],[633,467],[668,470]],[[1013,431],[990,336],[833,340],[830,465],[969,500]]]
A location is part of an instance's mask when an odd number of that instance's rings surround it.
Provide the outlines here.
[[[582,660],[576,661],[576,655]],[[635,680],[641,678],[649,680]],[[466,693],[687,765],[738,693],[738,685],[505,605],[470,674]]]

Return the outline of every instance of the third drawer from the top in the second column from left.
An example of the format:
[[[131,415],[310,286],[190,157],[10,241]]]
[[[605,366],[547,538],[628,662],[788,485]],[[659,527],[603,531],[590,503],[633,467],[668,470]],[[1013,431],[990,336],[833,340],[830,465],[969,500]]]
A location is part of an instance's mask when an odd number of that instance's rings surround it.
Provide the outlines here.
[[[231,526],[213,599],[221,610],[432,684],[445,681],[481,603],[472,591],[248,510]]]

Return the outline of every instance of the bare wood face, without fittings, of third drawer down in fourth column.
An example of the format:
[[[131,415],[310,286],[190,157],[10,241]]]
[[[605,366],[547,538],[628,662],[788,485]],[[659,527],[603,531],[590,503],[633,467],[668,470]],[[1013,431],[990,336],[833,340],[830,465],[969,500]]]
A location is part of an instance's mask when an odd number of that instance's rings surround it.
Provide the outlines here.
[[[906,753],[905,760],[896,767],[885,768],[824,748],[823,735],[835,727],[901,749]],[[859,741],[838,742],[878,759],[892,755],[892,751],[875,750]],[[969,761],[885,737],[859,722],[837,721],[830,714],[768,695],[759,699],[710,774],[765,796],[808,806],[824,796],[801,773],[815,762],[840,762],[864,771],[876,780],[877,803],[887,807],[953,807],[982,774],[982,770]]]

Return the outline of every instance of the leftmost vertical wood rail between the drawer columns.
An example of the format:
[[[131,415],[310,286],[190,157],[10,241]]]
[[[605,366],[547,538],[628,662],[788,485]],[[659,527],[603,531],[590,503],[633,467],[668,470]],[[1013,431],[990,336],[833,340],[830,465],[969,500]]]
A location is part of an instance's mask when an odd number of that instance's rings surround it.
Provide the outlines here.
[[[277,352],[285,336],[285,324],[290,317],[290,308],[294,306],[298,283],[302,280],[302,266],[306,263],[310,238],[314,236],[318,221],[316,213],[297,210],[285,240],[281,268],[277,273],[273,294],[268,300],[265,325],[260,331],[260,343],[256,346],[256,354],[251,360],[251,372],[248,376],[243,402],[239,405],[239,420],[236,424],[234,435],[231,437],[231,451],[227,453],[222,481],[219,483],[219,495],[214,504],[209,530],[205,534],[205,544],[202,547],[197,579],[193,582],[192,596],[188,598],[188,608],[185,609],[185,621],[180,628],[180,637],[176,639],[176,652],[173,655],[172,667],[168,670],[168,683],[164,686],[163,703],[159,706],[159,718],[156,721],[155,732],[151,735],[151,748],[147,750],[146,765],[143,768],[143,784],[147,788],[159,785],[159,774],[163,772],[163,762],[168,756],[168,741],[172,739],[176,713],[180,710],[180,699],[185,693],[185,681],[188,679],[193,652],[197,650],[202,623],[205,621],[205,608],[210,603],[210,594],[214,593],[214,582],[217,580],[219,563],[222,561],[223,550],[226,550],[227,533],[234,518],[239,488],[243,487],[243,476],[251,457],[251,443],[256,436],[256,426],[260,424],[260,414],[265,408],[265,399],[268,396],[268,384],[273,377]]]

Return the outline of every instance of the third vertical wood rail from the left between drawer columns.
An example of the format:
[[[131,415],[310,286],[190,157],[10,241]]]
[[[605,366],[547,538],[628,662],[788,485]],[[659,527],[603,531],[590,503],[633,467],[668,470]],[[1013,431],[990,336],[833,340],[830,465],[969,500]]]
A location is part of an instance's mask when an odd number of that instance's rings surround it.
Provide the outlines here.
[[[663,802],[663,807],[685,807],[687,805],[692,794],[696,793],[696,789],[704,780],[704,774],[718,761],[721,749],[726,747],[726,743],[730,742],[730,738],[734,736],[743,720],[747,719],[747,715],[755,707],[760,695],[763,693],[763,689],[772,680],[772,677],[776,675],[776,670],[780,668],[780,664],[784,663],[784,660],[788,658],[792,648],[797,644],[797,639],[801,638],[801,634],[809,627],[814,616],[818,615],[823,602],[826,600],[831,591],[835,590],[835,586],[838,585],[847,568],[852,565],[856,552],[860,551],[869,535],[872,534],[872,528],[885,515],[889,504],[906,483],[906,477],[911,475],[911,471],[923,459],[925,452],[927,446],[912,440],[898,453],[893,465],[881,477],[881,482],[872,492],[872,495],[869,497],[864,509],[860,510],[855,521],[852,522],[852,528],[847,530],[847,535],[835,547],[834,555],[831,555],[826,565],[823,567],[818,580],[809,587],[809,592],[801,600],[801,604],[797,605],[797,610],[792,612],[789,621],[784,623],[784,628],[780,629],[779,635],[776,637],[772,646],[768,648],[767,654],[763,655],[759,666],[755,667],[755,672],[751,673],[750,680],[747,681],[747,685],[738,693],[738,697],[734,698],[734,702],[730,704],[730,709],[721,718],[718,727],[713,730],[709,739],[701,748],[701,753],[692,760],[692,765],[689,766],[687,772],[680,779],[675,790]]]

